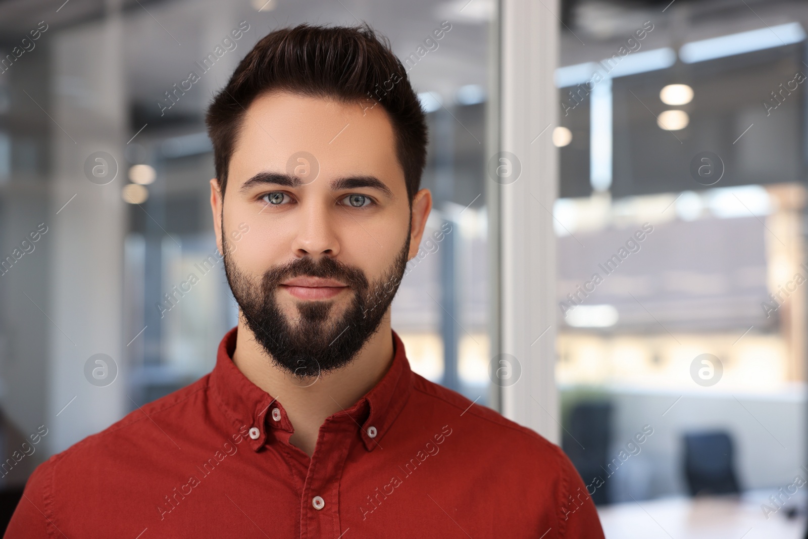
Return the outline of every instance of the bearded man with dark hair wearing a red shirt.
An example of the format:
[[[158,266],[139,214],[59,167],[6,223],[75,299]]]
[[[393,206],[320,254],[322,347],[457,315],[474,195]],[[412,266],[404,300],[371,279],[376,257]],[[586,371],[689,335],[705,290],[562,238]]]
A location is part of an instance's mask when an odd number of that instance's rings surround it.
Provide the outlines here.
[[[272,32],[207,123],[238,326],[212,373],[41,465],[6,537],[603,537],[557,446],[412,373],[390,327],[431,195],[387,41]]]

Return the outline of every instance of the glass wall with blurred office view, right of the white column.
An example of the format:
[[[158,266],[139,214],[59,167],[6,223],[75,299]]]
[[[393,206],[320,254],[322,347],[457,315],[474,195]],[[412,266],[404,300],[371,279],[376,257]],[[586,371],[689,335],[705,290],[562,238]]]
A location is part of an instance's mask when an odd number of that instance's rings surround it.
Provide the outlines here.
[[[607,537],[802,537],[808,6],[651,3],[562,32],[563,447]]]

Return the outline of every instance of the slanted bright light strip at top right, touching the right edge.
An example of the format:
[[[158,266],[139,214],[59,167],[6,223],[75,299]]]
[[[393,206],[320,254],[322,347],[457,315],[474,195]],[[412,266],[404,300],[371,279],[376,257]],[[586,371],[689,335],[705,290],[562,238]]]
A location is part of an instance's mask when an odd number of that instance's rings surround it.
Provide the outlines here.
[[[692,41],[682,45],[682,48],[679,49],[679,57],[684,63],[692,64],[696,61],[782,47],[799,43],[804,39],[806,39],[806,32],[800,23],[786,23],[749,32],[713,37],[709,40]]]

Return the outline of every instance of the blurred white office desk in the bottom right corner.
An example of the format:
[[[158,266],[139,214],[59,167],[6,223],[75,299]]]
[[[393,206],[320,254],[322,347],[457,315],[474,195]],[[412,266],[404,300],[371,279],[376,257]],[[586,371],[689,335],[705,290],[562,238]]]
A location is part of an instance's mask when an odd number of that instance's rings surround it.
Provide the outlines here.
[[[614,503],[599,507],[598,514],[606,539],[803,539],[804,511],[789,519],[784,508],[766,519],[760,504],[772,494],[767,490]],[[804,493],[798,491],[789,503],[806,507]]]

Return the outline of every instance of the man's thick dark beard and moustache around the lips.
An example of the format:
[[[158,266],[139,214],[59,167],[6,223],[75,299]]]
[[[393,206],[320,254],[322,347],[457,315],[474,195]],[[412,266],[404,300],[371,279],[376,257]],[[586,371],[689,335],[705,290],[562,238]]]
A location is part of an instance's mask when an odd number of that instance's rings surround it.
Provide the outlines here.
[[[409,229],[408,229],[409,231]],[[241,272],[229,258],[230,248],[222,231],[225,276],[244,321],[255,340],[277,367],[298,381],[314,378],[350,364],[379,328],[401,284],[410,251],[410,234],[393,264],[381,279],[368,283],[364,272],[328,256],[320,263],[305,256],[283,266],[271,267],[260,284]],[[330,316],[335,300],[297,301],[300,318],[290,324],[276,294],[284,280],[297,276],[339,280],[349,287],[353,299],[339,317]],[[311,383],[314,383],[312,381]],[[311,385],[306,384],[306,385]]]

